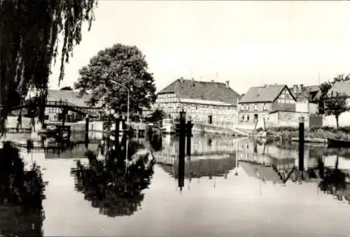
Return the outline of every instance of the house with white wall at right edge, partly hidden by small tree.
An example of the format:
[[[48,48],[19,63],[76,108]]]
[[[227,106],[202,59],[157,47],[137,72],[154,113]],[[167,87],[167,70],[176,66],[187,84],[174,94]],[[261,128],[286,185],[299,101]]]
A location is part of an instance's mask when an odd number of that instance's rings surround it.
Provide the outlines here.
[[[335,82],[328,91],[328,96],[335,95],[346,96],[348,106],[350,106],[350,80]],[[335,116],[325,116],[323,120],[325,126],[336,126]],[[342,113],[339,117],[339,126],[350,126],[350,111]]]

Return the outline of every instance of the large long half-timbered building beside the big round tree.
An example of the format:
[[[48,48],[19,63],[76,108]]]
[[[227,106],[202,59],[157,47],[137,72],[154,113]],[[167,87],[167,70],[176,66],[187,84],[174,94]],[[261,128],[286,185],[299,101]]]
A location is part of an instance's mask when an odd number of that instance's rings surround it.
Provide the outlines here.
[[[181,110],[193,123],[235,126],[237,101],[241,96],[230,88],[229,82],[202,82],[177,79],[162,89],[155,108],[165,111],[168,117],[179,117]]]

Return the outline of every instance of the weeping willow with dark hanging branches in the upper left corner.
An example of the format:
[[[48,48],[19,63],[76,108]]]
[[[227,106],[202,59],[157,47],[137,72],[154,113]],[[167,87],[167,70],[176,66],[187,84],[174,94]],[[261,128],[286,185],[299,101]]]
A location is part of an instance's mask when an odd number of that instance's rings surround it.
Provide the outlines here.
[[[0,136],[29,90],[43,122],[52,63],[59,58],[60,82],[96,6],[97,0],[0,0]]]

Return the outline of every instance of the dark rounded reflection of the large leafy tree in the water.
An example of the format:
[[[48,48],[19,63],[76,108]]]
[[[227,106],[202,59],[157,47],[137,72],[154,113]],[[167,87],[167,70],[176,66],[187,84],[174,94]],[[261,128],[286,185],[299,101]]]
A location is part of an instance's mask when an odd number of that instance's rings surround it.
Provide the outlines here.
[[[135,154],[140,144],[130,142],[125,167],[125,149],[117,155],[108,150],[106,159],[97,160],[92,152],[87,154],[88,165],[77,161],[72,174],[78,192],[85,194],[92,207],[109,217],[132,215],[141,207],[144,200],[142,191],[151,183],[154,161],[147,153]]]

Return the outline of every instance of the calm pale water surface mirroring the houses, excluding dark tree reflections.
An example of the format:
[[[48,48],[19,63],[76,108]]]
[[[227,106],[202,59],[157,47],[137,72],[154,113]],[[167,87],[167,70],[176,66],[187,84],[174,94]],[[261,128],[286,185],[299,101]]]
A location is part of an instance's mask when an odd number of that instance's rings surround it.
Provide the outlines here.
[[[59,153],[22,150],[22,156],[29,164],[36,161],[48,182],[44,236],[349,236],[350,152],[306,147],[307,172],[299,182],[293,169],[298,164],[296,148],[195,135],[193,154],[186,157],[185,179],[180,182],[183,187],[179,187],[179,143],[164,137],[162,148],[153,151],[157,163],[150,185],[133,200],[123,199],[125,207],[138,202],[136,210],[114,210],[116,217],[77,191],[71,170],[76,159],[87,162],[85,145]],[[88,149],[97,150],[97,142]],[[320,164],[325,173],[337,168],[343,178],[325,183],[319,175]],[[320,188],[320,183],[327,188]],[[16,215],[20,214],[8,212],[1,220],[27,222],[27,213]],[[6,228],[8,222],[1,221],[0,230]]]

